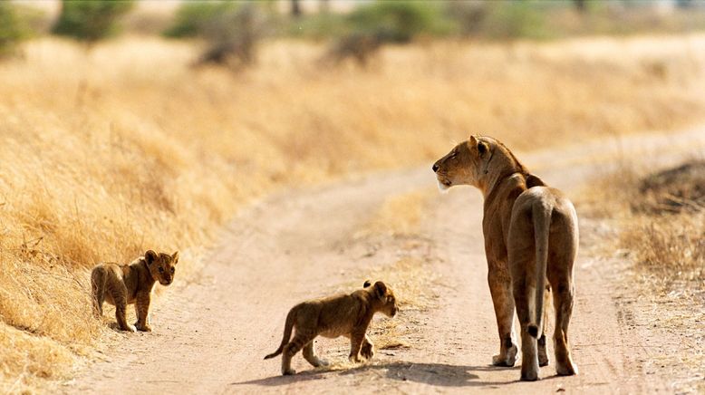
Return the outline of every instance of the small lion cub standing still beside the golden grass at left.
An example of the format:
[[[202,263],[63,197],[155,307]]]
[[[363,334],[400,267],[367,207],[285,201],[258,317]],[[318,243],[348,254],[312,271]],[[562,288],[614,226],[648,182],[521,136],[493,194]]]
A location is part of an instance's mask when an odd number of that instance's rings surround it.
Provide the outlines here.
[[[174,281],[174,267],[179,262],[179,251],[172,255],[152,250],[130,265],[107,263],[96,265],[91,272],[93,291],[93,313],[102,315],[102,303],[115,306],[115,319],[122,331],[151,332],[150,297],[154,283],[169,285]],[[135,303],[137,323],[127,323],[128,304]]]

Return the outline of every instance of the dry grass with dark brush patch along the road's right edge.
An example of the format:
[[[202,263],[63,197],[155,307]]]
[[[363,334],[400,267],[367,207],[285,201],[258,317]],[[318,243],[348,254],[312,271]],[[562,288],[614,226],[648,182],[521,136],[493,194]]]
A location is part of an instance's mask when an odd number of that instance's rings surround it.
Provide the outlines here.
[[[636,299],[635,320],[654,338],[651,369],[664,371],[673,388],[698,392],[705,363],[705,207],[701,160],[654,172],[629,165],[595,183],[586,212],[611,223],[603,255],[627,258],[632,271],[624,294]],[[693,170],[693,171],[691,171]]]

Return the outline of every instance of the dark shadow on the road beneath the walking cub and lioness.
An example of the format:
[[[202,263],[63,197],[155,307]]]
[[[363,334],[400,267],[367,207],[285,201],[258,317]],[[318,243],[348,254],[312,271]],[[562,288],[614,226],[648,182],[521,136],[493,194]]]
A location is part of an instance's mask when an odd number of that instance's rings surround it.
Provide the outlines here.
[[[233,382],[230,385],[255,384],[263,386],[280,386],[301,381],[315,381],[330,378],[333,375],[348,376],[352,374],[372,374],[396,381],[412,381],[442,387],[484,387],[508,384],[510,381],[478,381],[474,371],[498,371],[507,368],[494,366],[458,366],[446,363],[382,362],[367,364],[352,369],[317,369],[302,371],[294,376],[275,376],[252,381]],[[517,370],[518,368],[509,368]],[[517,374],[518,376],[518,374]]]

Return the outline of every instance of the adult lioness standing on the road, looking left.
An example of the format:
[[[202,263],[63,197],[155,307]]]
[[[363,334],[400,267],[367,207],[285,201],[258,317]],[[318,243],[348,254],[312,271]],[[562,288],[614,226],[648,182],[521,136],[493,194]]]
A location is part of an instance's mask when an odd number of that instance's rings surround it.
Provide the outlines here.
[[[538,379],[538,366],[548,364],[546,320],[542,324],[542,319],[544,298],[553,288],[555,371],[576,374],[568,346],[575,294],[573,263],[578,248],[573,204],[558,189],[546,187],[530,174],[501,142],[489,137],[471,136],[439,159],[433,171],[441,190],[471,185],[485,198],[482,230],[500,344],[492,363],[513,366],[517,359],[517,346],[512,341],[516,305],[521,323],[521,380]]]

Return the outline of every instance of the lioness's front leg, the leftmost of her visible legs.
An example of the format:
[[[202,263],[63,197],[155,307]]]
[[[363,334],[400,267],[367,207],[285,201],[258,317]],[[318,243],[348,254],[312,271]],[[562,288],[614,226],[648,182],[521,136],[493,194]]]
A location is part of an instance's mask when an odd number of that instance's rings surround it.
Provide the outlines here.
[[[517,361],[517,345],[512,342],[514,299],[512,298],[511,276],[506,263],[488,260],[488,264],[489,291],[495,306],[499,333],[499,354],[492,357],[492,364],[514,366]]]

